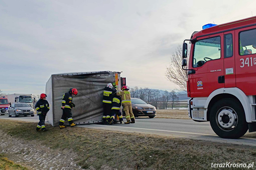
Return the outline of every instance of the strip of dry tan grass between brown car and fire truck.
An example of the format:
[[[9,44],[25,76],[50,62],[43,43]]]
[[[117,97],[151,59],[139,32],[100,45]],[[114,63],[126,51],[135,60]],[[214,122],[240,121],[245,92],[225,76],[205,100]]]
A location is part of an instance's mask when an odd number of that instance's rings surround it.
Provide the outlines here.
[[[188,117],[187,110],[178,110],[178,109],[158,109],[156,112],[156,118],[169,118],[169,119],[190,119]]]

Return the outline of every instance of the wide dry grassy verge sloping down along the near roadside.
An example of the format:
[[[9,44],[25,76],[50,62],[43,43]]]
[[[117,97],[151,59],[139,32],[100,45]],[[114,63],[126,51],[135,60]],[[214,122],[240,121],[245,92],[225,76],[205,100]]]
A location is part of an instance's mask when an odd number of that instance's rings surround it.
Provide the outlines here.
[[[26,148],[35,147],[33,149],[36,152],[17,152],[21,156],[24,155],[23,163],[35,164],[38,169],[41,164],[45,166],[43,169],[50,168],[46,164],[47,161],[33,159],[45,150],[49,153],[60,152],[59,157],[63,163],[70,163],[69,155],[75,154],[77,156],[72,156],[72,163],[84,169],[210,169],[211,163],[256,161],[256,147],[79,126],[59,129],[47,124],[46,132],[36,132],[35,127],[36,123],[0,119],[0,133],[4,136],[2,143],[15,141],[16,144],[18,141],[26,145]],[[5,150],[4,146],[0,145],[0,150]],[[67,153],[62,156],[61,152],[65,150]],[[5,153],[9,159],[15,161],[17,156],[8,150],[5,150]]]

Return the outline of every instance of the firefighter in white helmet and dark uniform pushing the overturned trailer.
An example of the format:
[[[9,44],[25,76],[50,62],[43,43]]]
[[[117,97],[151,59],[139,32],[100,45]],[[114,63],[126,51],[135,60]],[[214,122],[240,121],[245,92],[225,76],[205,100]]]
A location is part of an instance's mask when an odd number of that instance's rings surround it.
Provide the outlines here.
[[[113,85],[115,86],[115,89],[113,89]],[[109,124],[110,121],[110,114],[111,114],[111,107],[112,107],[112,99],[113,94],[117,92],[117,86],[115,83],[108,83],[107,86],[104,88],[103,92],[103,117],[102,117],[102,123],[103,124]]]

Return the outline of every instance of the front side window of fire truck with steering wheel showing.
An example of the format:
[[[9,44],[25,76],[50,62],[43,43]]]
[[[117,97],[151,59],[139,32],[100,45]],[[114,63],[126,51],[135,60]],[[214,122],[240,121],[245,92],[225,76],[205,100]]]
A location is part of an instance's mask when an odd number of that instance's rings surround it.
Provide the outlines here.
[[[208,61],[220,59],[220,36],[199,40],[195,43],[193,67],[201,67]]]

